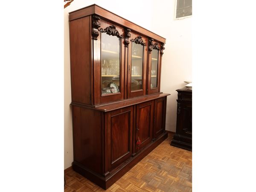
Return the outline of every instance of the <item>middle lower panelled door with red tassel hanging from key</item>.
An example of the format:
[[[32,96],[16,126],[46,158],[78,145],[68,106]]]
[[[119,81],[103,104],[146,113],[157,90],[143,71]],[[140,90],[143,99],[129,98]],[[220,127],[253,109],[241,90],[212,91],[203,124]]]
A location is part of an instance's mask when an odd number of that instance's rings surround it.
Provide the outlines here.
[[[136,126],[134,151],[135,153],[143,149],[152,140],[153,131],[153,101],[144,102],[136,105]]]

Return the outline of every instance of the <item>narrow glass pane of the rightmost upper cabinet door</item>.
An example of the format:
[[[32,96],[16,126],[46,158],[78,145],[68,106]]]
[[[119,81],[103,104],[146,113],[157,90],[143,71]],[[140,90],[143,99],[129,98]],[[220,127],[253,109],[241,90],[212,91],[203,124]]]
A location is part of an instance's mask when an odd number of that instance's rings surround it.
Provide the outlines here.
[[[150,88],[157,87],[158,50],[152,50],[151,57],[151,84]]]

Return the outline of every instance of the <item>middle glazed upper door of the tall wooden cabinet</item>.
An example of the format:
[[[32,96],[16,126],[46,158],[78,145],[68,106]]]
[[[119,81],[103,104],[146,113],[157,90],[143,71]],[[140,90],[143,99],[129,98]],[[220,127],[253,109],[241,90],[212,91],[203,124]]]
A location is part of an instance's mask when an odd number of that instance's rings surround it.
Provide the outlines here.
[[[128,98],[146,94],[148,39],[131,32],[128,47]]]

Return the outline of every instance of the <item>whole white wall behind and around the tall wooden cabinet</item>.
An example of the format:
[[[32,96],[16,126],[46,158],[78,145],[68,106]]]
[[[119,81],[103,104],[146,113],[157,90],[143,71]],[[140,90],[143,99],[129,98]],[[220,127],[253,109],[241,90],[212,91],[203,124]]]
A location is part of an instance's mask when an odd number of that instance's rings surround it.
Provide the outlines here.
[[[183,87],[184,80],[192,79],[192,17],[174,20],[174,0],[74,0],[64,9],[64,169],[73,162],[68,13],[94,3],[166,38],[161,76],[161,91],[171,93],[167,97],[166,130],[176,130],[175,90]]]

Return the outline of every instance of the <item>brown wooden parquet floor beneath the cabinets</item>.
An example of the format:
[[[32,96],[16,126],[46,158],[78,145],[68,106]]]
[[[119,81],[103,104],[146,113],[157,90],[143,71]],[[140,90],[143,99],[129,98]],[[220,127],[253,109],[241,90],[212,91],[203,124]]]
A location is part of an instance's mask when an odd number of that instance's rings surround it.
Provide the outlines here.
[[[192,192],[192,152],[170,145],[172,134],[123,175],[108,192]],[[65,192],[105,191],[70,169]]]

